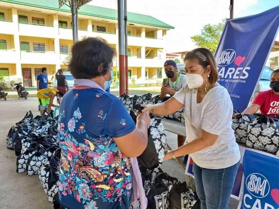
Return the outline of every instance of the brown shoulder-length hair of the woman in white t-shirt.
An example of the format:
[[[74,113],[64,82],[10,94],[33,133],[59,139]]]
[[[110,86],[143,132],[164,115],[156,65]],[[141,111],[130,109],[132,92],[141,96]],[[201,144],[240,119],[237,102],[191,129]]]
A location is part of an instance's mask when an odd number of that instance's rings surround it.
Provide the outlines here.
[[[186,60],[198,60],[199,65],[203,66],[203,68],[210,65],[211,73],[209,75],[208,80],[210,83],[217,82],[219,74],[217,71],[216,60],[211,51],[209,51],[206,48],[196,48],[186,54],[186,56],[184,57],[184,62]]]

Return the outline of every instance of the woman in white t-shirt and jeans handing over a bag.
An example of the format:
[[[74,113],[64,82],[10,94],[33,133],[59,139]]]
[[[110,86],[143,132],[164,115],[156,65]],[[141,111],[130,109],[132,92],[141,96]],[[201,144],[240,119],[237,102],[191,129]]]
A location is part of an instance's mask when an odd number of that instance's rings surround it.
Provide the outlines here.
[[[217,83],[213,54],[205,48],[187,53],[187,85],[168,101],[146,105],[142,111],[164,116],[185,107],[187,144],[168,151],[165,160],[190,154],[201,209],[228,206],[240,160],[231,128],[233,105],[228,91]]]

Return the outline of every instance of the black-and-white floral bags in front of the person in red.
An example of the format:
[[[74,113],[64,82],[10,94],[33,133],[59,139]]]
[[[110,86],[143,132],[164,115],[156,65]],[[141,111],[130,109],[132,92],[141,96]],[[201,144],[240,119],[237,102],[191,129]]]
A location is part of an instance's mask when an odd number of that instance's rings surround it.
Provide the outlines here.
[[[232,128],[237,142],[279,156],[278,118],[259,114],[239,115],[238,119],[233,119]]]

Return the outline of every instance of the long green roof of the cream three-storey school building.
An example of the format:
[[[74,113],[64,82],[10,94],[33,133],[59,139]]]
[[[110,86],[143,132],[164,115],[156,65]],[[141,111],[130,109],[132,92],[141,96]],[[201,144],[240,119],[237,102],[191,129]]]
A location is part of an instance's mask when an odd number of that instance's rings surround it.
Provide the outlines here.
[[[71,12],[70,7],[68,7],[67,5],[63,5],[59,9],[58,0],[0,0],[0,2],[1,1],[12,3],[12,4],[33,6],[37,8],[43,8],[43,9]],[[79,9],[79,14],[84,14],[93,17],[102,17],[106,19],[115,19],[115,9],[108,9],[99,6],[91,6],[91,5],[81,6],[81,8]],[[143,14],[132,13],[132,12],[128,12],[128,22],[174,29],[174,27],[172,27],[171,25],[166,24],[154,17],[143,15]]]

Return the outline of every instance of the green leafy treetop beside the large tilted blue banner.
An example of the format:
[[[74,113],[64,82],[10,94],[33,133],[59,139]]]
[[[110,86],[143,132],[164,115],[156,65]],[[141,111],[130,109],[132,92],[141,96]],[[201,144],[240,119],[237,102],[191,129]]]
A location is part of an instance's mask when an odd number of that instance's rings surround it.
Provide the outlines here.
[[[225,20],[222,23],[211,25],[207,24],[203,27],[199,35],[192,36],[191,39],[199,47],[208,48],[213,54],[218,46]]]

